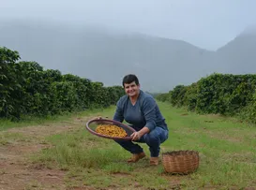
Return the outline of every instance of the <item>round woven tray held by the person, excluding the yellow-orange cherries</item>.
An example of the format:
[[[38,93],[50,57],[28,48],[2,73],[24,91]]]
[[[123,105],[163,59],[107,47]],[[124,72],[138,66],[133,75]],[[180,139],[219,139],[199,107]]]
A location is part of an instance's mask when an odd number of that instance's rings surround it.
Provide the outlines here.
[[[107,136],[107,135],[98,134],[96,132],[96,128],[97,128],[98,124],[113,124],[113,125],[117,125],[117,126],[123,128],[127,132],[127,137],[119,138],[119,137],[110,137],[110,136]],[[119,123],[119,122],[116,122],[116,121],[113,121],[113,120],[109,120],[109,119],[93,119],[93,120],[90,120],[90,121],[88,121],[86,123],[86,129],[90,133],[92,133],[93,135],[96,135],[96,136],[98,136],[100,138],[106,138],[106,139],[131,140],[132,137],[130,137],[130,135],[133,132],[136,132],[135,129],[133,129],[132,127],[128,126],[127,124],[122,124],[122,123]]]

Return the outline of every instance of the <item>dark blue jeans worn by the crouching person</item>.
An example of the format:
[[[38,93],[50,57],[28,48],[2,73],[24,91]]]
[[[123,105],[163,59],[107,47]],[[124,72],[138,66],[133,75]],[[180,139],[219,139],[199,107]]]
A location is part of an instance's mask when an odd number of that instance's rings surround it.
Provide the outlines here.
[[[136,142],[146,143],[149,146],[150,156],[158,157],[160,153],[160,144],[168,139],[169,131],[161,127],[156,127],[154,130],[143,135],[143,137]],[[143,153],[143,148],[133,143],[130,140],[114,139],[120,146],[122,146],[129,153]]]

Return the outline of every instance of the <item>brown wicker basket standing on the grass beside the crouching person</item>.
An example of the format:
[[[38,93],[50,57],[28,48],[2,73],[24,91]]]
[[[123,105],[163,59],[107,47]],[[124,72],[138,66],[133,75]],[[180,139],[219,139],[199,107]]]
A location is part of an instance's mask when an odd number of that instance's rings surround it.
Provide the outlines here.
[[[196,151],[173,151],[162,153],[162,165],[166,172],[188,174],[199,167],[199,153]]]

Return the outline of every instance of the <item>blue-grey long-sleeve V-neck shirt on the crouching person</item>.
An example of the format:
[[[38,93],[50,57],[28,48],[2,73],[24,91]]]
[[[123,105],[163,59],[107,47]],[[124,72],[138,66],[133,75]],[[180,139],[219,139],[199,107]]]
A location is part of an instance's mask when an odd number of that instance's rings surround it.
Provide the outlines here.
[[[125,120],[128,124],[132,124],[137,131],[144,126],[150,131],[157,126],[168,130],[165,118],[162,116],[154,97],[142,90],[140,90],[140,95],[134,106],[128,95],[122,96],[117,101],[113,120],[121,123]]]

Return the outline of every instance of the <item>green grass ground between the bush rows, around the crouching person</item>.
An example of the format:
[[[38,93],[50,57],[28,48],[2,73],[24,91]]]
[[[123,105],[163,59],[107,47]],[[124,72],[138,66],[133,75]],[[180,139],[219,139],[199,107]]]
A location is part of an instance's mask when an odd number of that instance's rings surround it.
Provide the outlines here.
[[[113,116],[114,108],[81,113],[80,123],[66,118],[71,130],[48,133],[38,138],[48,144],[37,153],[27,155],[28,165],[64,172],[67,189],[254,189],[256,187],[256,126],[240,123],[218,115],[197,115],[158,103],[170,128],[170,136],[161,146],[161,153],[174,150],[196,150],[200,153],[199,169],[189,175],[170,175],[160,163],[149,167],[149,151],[142,144],[147,157],[135,164],[126,160],[130,154],[112,139],[100,139],[85,130],[89,117]],[[63,118],[62,118],[63,119]],[[56,120],[54,124],[59,124]],[[3,122],[2,122],[3,124]],[[41,123],[40,123],[41,124]],[[51,124],[48,121],[47,124]],[[54,124],[51,129],[54,130]],[[11,125],[11,124],[10,124]],[[0,146],[30,141],[26,133],[5,130],[0,133]],[[23,128],[24,124],[20,124]],[[15,125],[11,125],[15,127]],[[28,126],[29,127],[29,126]],[[25,128],[25,127],[24,127]],[[0,170],[5,175],[5,170]],[[0,185],[1,187],[1,185]],[[58,189],[53,186],[53,189]],[[254,188],[253,188],[254,187]],[[30,189],[44,189],[36,182]],[[29,189],[27,187],[27,189]],[[1,189],[1,188],[0,188]],[[62,189],[59,187],[59,189]]]

